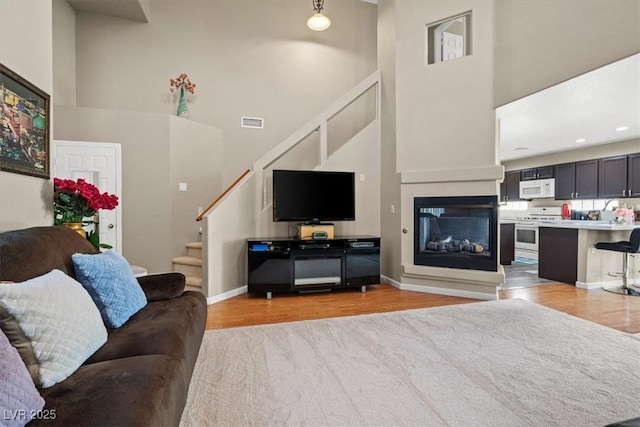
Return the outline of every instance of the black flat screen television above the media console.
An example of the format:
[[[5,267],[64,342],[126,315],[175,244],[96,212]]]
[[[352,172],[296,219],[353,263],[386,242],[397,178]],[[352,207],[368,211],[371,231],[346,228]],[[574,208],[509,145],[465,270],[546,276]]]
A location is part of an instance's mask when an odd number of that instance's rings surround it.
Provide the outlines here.
[[[353,172],[275,169],[273,221],[354,221],[355,194]]]

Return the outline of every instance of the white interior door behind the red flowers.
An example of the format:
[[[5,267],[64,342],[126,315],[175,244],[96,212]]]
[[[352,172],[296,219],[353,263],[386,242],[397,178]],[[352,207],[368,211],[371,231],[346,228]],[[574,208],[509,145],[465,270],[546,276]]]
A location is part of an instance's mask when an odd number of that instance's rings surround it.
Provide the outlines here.
[[[118,207],[100,210],[100,243],[122,253],[122,169],[121,147],[118,143],[53,141],[56,178],[84,178],[100,192],[118,196]]]

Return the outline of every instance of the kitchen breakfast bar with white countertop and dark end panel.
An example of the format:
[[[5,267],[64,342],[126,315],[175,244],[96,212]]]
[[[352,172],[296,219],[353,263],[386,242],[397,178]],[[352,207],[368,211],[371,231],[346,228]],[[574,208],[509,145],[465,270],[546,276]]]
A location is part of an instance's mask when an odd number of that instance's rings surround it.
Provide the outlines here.
[[[619,278],[609,275],[622,268],[619,253],[595,248],[599,242],[629,240],[640,224],[616,224],[609,221],[539,221],[538,275],[583,289],[615,286]],[[638,257],[640,258],[640,257]],[[629,262],[630,279],[640,269],[640,259]]]

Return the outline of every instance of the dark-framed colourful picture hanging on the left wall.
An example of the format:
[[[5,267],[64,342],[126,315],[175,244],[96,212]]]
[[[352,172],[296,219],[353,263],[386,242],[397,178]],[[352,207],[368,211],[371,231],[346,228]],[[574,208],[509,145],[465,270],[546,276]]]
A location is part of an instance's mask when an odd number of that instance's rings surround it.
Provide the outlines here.
[[[0,170],[50,178],[50,96],[0,64]]]

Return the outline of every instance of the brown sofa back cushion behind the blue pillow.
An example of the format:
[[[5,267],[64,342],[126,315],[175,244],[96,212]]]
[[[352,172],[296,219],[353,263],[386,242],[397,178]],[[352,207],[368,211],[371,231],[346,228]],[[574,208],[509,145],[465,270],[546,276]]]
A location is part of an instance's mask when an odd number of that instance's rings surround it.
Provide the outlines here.
[[[95,254],[85,238],[64,226],[32,227],[0,233],[0,280],[23,282],[51,270],[75,277],[71,255]]]

